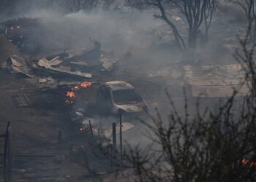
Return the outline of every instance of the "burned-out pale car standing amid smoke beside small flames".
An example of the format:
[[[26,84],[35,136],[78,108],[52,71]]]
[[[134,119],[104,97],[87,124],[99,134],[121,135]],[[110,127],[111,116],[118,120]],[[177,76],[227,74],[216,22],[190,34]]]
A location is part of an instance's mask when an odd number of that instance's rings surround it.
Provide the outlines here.
[[[123,81],[100,85],[97,89],[96,106],[102,114],[138,114],[148,109],[140,93]]]

